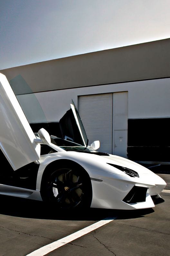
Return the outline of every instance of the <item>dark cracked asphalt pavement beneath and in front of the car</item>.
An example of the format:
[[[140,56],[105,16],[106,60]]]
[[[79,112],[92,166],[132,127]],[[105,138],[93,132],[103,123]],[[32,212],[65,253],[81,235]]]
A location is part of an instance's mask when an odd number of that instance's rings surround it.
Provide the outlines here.
[[[42,202],[0,196],[0,256],[26,256],[105,218],[113,220],[48,256],[169,256],[170,175],[158,175],[167,182],[165,202],[144,210],[60,212]]]

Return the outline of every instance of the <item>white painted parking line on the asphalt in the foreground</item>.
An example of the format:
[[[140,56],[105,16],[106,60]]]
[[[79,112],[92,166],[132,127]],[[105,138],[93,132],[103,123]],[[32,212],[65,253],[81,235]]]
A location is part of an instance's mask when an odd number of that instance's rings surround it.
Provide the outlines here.
[[[67,243],[70,243],[71,241],[79,238],[79,237],[82,237],[88,233],[90,233],[91,231],[95,230],[95,229],[98,229],[104,225],[106,225],[107,223],[111,222],[112,220],[116,219],[116,217],[114,218],[106,218],[106,219],[102,219],[98,222],[95,222],[94,224],[84,228],[84,229],[81,229],[69,236],[66,236],[64,238],[61,238],[55,242],[52,242],[50,244],[47,244],[29,254],[27,254],[26,256],[44,256],[46,255],[47,253],[51,252],[51,251],[54,251],[56,250],[57,248],[67,244]]]

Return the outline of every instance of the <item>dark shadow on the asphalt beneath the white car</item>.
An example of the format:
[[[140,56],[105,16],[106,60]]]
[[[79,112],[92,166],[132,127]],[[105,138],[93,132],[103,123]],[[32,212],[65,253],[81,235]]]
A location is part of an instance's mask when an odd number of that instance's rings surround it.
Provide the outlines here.
[[[105,218],[134,219],[154,212],[152,208],[142,210],[110,210],[90,208],[87,210],[62,211],[41,201],[0,196],[0,214],[31,219],[57,220],[101,220]]]

